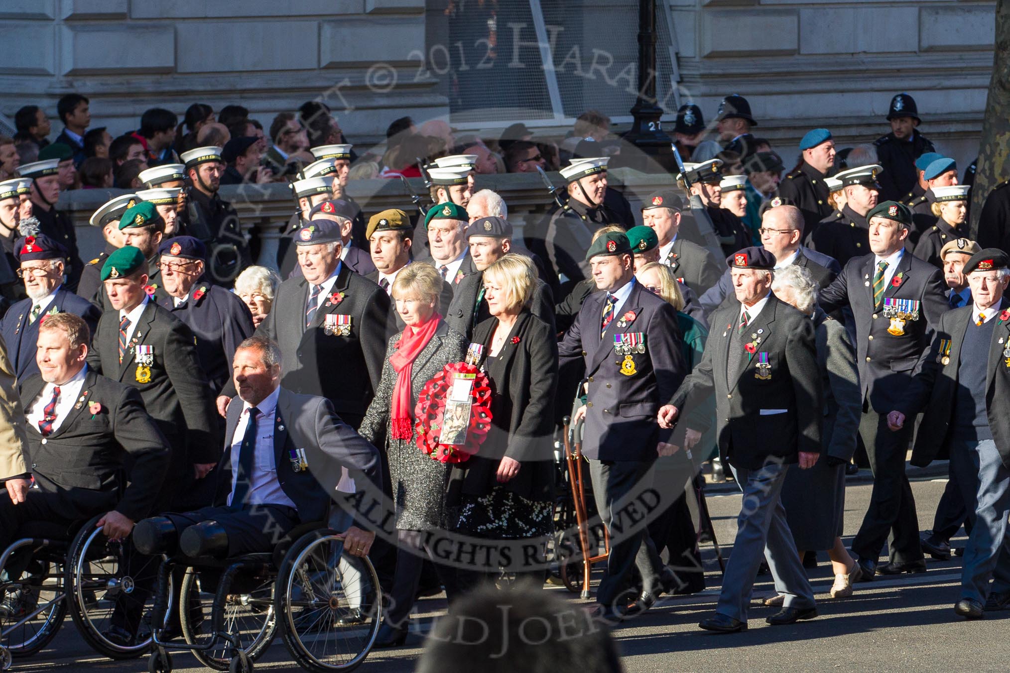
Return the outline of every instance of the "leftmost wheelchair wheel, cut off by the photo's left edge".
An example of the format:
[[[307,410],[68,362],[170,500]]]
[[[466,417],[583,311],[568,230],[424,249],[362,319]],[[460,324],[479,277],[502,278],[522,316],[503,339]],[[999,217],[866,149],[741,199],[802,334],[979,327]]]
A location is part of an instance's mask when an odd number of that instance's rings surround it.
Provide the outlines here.
[[[19,551],[30,553],[30,549],[26,546]],[[30,657],[48,645],[60,631],[67,615],[66,561],[61,556],[62,553],[36,553],[18,579],[0,583],[0,600],[21,606],[14,614],[7,610],[0,613],[4,659]]]

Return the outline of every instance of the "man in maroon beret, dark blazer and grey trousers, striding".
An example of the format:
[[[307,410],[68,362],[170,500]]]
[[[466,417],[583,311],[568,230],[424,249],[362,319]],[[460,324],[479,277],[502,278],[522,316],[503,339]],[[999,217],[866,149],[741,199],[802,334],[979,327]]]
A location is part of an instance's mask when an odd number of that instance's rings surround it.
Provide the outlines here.
[[[715,394],[719,455],[743,491],[743,508],[732,556],[722,578],[715,616],[707,631],[746,631],[747,607],[762,559],[775,588],[786,596],[782,610],[766,621],[793,624],[817,616],[814,594],[796,552],[780,495],[791,463],[812,467],[820,442],[821,376],[813,321],[772,294],[775,255],[744,248],[726,258],[738,304],[712,314],[702,360],[660,410],[663,428],[673,428],[685,407]],[[687,417],[685,417],[687,418]],[[691,423],[700,423],[694,417]],[[691,449],[707,428],[689,427],[672,453]]]

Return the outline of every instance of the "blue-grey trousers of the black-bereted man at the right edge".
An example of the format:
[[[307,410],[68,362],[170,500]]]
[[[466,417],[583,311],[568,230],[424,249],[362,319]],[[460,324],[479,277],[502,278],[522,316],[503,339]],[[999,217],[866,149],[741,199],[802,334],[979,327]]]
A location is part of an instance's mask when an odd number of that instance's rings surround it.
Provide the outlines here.
[[[985,603],[991,590],[1010,589],[1010,470],[1003,465],[993,440],[954,441],[950,446],[950,477],[961,486],[972,522],[961,594]],[[991,586],[990,579],[995,580]]]

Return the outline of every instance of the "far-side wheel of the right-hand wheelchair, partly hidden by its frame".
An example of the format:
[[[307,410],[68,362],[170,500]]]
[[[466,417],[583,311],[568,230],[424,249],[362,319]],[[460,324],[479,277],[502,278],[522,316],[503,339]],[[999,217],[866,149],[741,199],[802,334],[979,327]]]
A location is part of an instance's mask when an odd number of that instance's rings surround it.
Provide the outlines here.
[[[212,637],[211,610],[217,592],[217,581],[212,575],[213,571],[187,568],[183,576],[179,620],[183,638],[189,645],[206,645]],[[274,577],[240,572],[228,590],[221,629],[237,638],[241,651],[255,661],[270,647],[277,632]],[[227,671],[231,666],[231,647],[223,639],[218,639],[209,650],[195,650],[193,656],[216,671]]]

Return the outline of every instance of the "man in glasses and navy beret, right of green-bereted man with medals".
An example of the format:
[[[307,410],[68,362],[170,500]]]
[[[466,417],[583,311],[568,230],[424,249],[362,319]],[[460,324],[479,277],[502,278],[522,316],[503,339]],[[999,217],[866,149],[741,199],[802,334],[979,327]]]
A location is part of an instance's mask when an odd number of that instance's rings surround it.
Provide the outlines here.
[[[200,281],[207,248],[199,238],[169,238],[158,246],[158,254],[169,295],[159,305],[193,331],[200,366],[217,398],[231,376],[235,349],[252,335],[252,315],[234,293]]]

